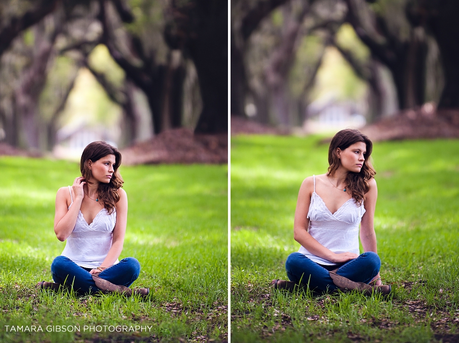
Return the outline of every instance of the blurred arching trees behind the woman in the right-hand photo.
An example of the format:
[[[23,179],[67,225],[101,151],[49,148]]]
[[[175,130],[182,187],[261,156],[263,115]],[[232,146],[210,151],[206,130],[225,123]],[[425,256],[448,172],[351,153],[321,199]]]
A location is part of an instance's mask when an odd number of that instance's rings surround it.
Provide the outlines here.
[[[454,0],[233,0],[231,113],[301,126],[459,110]]]

